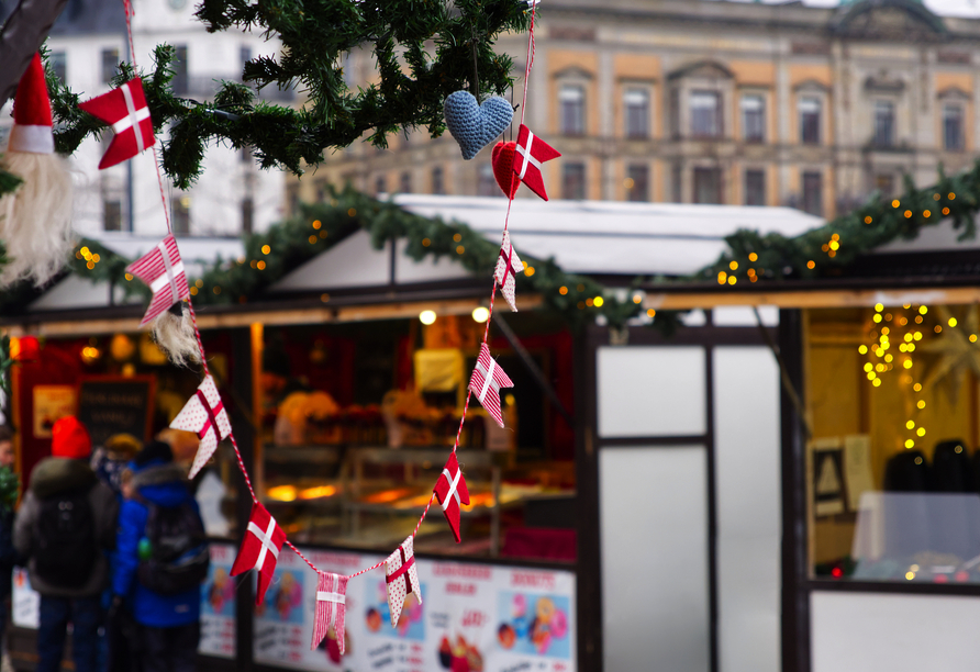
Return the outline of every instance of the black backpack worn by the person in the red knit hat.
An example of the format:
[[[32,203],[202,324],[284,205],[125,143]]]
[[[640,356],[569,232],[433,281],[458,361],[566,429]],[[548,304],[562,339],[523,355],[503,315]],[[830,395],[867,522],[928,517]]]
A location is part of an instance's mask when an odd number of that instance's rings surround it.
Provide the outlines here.
[[[45,583],[80,589],[92,575],[99,548],[90,491],[73,490],[41,500],[34,528],[34,571]]]

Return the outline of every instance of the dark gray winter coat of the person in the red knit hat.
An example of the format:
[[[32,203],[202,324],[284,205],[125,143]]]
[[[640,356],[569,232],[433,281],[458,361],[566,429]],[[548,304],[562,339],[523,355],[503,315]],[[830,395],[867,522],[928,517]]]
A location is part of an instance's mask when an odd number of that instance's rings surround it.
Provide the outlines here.
[[[108,585],[109,560],[99,552],[92,573],[85,585],[77,589],[54,586],[37,575],[33,556],[36,546],[35,529],[41,515],[41,500],[62,492],[90,486],[88,499],[92,508],[96,544],[102,550],[115,546],[115,522],[119,515],[119,501],[108,485],[96,478],[91,468],[80,460],[68,458],[45,458],[37,462],[31,472],[31,489],[24,496],[13,526],[13,545],[23,557],[30,558],[27,570],[31,587],[51,597],[91,597]]]

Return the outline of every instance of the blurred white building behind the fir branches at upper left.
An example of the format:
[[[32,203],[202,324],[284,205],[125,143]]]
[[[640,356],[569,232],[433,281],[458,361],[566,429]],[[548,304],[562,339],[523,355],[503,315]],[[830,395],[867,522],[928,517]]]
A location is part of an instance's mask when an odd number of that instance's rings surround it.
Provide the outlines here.
[[[272,56],[278,51],[278,43],[267,42],[259,34],[208,33],[194,19],[194,3],[188,0],[137,0],[133,9],[136,65],[151,70],[154,47],[172,45],[178,57],[174,90],[183,98],[207,101],[216,91],[215,80],[241,80],[245,60]],[[109,91],[116,64],[131,59],[123,11],[118,0],[69,0],[51,31],[46,42],[49,64],[82,100]],[[264,94],[282,96],[275,90]],[[8,103],[0,114],[0,135],[12,124],[10,109]],[[99,160],[111,139],[111,132],[101,142],[88,138],[70,158],[76,170],[76,231],[88,235],[101,231],[165,233],[152,153],[99,170]],[[165,178],[174,232],[234,236],[260,231],[281,219],[283,186],[283,173],[259,170],[250,153],[212,145],[205,154],[204,172],[191,189],[174,189]]]

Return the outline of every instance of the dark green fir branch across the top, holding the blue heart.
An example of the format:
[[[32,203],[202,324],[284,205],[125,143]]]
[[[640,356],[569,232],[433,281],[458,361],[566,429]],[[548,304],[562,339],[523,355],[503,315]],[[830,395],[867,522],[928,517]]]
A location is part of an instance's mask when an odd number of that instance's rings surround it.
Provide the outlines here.
[[[400,130],[445,130],[443,101],[474,80],[474,42],[483,93],[504,93],[512,85],[511,58],[493,52],[506,31],[525,31],[524,0],[204,0],[198,18],[209,31],[261,31],[282,42],[276,58],[245,64],[242,80],[221,82],[214,101],[200,103],[174,96],[174,49],[160,45],[153,70],[143,72],[146,101],[157,133],[170,127],[163,143],[163,167],[179,189],[201,173],[208,143],[254,148],[264,168],[301,172],[325,150],[343,148],[365,134],[378,147]],[[344,55],[374,53],[380,82],[350,90],[344,82]],[[121,64],[118,86],[134,75]],[[254,87],[254,88],[253,88]],[[309,97],[302,109],[260,101],[255,88],[293,89]],[[78,110],[79,96],[48,74],[58,152],[71,154],[105,125]],[[218,113],[215,113],[218,111]]]

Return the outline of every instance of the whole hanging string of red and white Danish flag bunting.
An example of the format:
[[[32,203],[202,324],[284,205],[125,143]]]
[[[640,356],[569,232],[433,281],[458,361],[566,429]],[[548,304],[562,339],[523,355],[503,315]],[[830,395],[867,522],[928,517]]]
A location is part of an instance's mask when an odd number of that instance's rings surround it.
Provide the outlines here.
[[[542,164],[560,155],[548,146],[548,144],[541,137],[535,136],[531,130],[524,125],[524,112],[527,103],[527,79],[534,61],[534,18],[537,1],[539,0],[528,0],[528,4],[531,5],[531,27],[527,40],[527,60],[524,67],[521,125],[515,152],[509,155],[509,158],[512,160],[512,166],[508,172],[513,173],[515,182],[520,181],[525,183],[537,195],[547,200],[544,187],[544,176],[542,173]],[[130,25],[132,5],[129,0],[124,0],[124,2],[126,7],[126,26],[131,42],[130,53],[135,54],[135,51],[132,48],[132,29]],[[208,358],[201,340],[201,333],[197,325],[193,302],[188,291],[183,262],[180,260],[177,239],[174,237],[170,227],[167,200],[164,194],[163,177],[159,171],[159,165],[156,158],[156,147],[154,146],[152,135],[152,122],[148,117],[148,112],[146,114],[142,113],[142,110],[145,109],[142,87],[138,79],[134,79],[126,82],[123,88],[124,91],[122,92],[120,89],[116,89],[105,94],[105,97],[111,97],[111,100],[107,99],[108,102],[113,102],[118,110],[111,114],[104,113],[104,116],[102,117],[113,124],[113,128],[116,133],[113,143],[120,141],[119,144],[121,147],[120,152],[113,153],[114,156],[111,157],[111,159],[107,155],[103,161],[108,163],[107,159],[114,160],[119,156],[122,156],[123,150],[129,155],[125,156],[125,158],[132,158],[145,148],[153,148],[153,157],[154,163],[157,164],[160,199],[163,201],[168,232],[167,236],[158,246],[154,247],[148,254],[135,261],[127,269],[132,275],[140,278],[140,280],[145,282],[153,290],[153,299],[141,326],[149,323],[166,311],[174,311],[175,306],[179,309],[181,304],[186,304],[197,337],[197,345],[201,354],[203,380],[194,395],[190,397],[185,407],[170,424],[170,426],[176,429],[194,432],[200,438],[200,445],[197,455],[194,456],[189,477],[193,478],[208,463],[222,440],[229,439],[231,441],[238,463],[238,469],[242,472],[245,485],[248,489],[248,493],[253,501],[248,525],[244,531],[238,555],[235,559],[231,574],[238,575],[255,570],[258,579],[256,604],[260,604],[266,590],[272,582],[276,572],[276,563],[282,547],[287,546],[290,548],[310,567],[310,569],[316,572],[319,576],[315,600],[315,625],[311,648],[315,648],[327,631],[332,629],[337,635],[339,651],[343,654],[348,580],[385,567],[391,609],[391,623],[392,626],[396,626],[401,614],[402,604],[408,594],[415,594],[419,602],[422,602],[421,583],[415,568],[413,541],[434,501],[438,501],[442,506],[446,522],[449,525],[449,529],[452,530],[456,542],[458,544],[461,540],[459,534],[459,516],[461,506],[469,504],[469,491],[463,474],[463,468],[457,460],[456,451],[459,446],[459,437],[463,433],[463,426],[466,423],[466,414],[469,408],[470,399],[476,395],[487,413],[491,415],[501,427],[504,426],[500,403],[500,390],[501,388],[512,388],[513,382],[497,360],[492,358],[488,336],[490,333],[490,322],[493,315],[493,300],[498,288],[501,289],[511,310],[517,310],[514,295],[516,289],[515,280],[516,273],[523,271],[523,265],[514,251],[508,232],[508,223],[510,221],[511,206],[513,205],[516,187],[510,189],[509,193],[508,190],[504,190],[509,200],[503,223],[500,258],[493,271],[493,285],[490,293],[490,317],[487,318],[487,326],[483,331],[479,358],[467,389],[466,401],[459,419],[459,428],[456,432],[456,440],[453,450],[446,460],[445,468],[436,479],[428,503],[425,505],[412,534],[405,538],[405,540],[399,545],[388,558],[350,575],[325,572],[320,570],[309,558],[293,546],[287,538],[286,533],[276,522],[276,518],[265,506],[263,506],[256,496],[252,479],[248,477],[248,471],[245,469],[245,462],[242,459],[242,452],[238,450],[238,445],[235,440],[231,418],[221,400],[221,394],[214,383],[214,379],[211,377],[208,369]],[[120,105],[122,107],[120,108]],[[88,105],[88,108],[93,112],[96,111],[96,107],[93,105]],[[123,110],[124,114],[120,114],[119,110]],[[101,108],[99,111],[101,114]],[[149,128],[148,135],[146,134],[146,128]],[[129,136],[123,138],[123,134],[129,134]],[[494,156],[497,154],[498,153],[494,153]],[[125,158],[119,160],[125,160]]]

